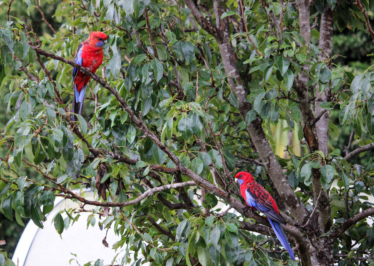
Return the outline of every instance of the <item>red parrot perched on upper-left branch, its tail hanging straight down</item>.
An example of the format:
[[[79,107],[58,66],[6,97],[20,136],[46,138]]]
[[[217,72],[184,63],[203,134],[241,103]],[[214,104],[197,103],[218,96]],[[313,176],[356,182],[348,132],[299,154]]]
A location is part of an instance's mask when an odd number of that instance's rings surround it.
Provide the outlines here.
[[[78,45],[75,55],[75,63],[82,67],[87,67],[92,73],[95,73],[102,63],[102,46],[107,40],[107,35],[100,31],[93,31],[87,40]],[[82,115],[83,101],[88,81],[91,77],[77,68],[73,68],[73,77],[71,78],[71,87],[74,90],[73,107],[71,112]],[[72,115],[73,121],[77,121],[76,115]]]

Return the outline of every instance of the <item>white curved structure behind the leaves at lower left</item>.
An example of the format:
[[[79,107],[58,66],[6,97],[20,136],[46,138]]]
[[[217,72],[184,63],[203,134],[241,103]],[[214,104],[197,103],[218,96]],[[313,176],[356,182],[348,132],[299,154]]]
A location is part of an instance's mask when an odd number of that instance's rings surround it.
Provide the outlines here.
[[[79,194],[79,190],[74,193]],[[93,200],[93,196],[93,192],[88,192],[85,198]],[[87,218],[92,213],[80,213],[79,220],[73,225],[70,224],[68,229],[64,229],[60,238],[52,219],[60,210],[74,207],[79,208],[79,205],[72,200],[64,200],[59,197],[55,199],[53,210],[47,214],[47,220],[43,222],[44,229],[40,229],[30,220],[19,239],[12,258],[15,265],[18,261],[18,266],[76,266],[94,262],[97,259],[103,259],[104,265],[112,264],[116,252],[111,249],[111,246],[119,241],[120,237],[115,235],[114,230],[110,228],[106,239],[109,248],[104,247],[102,239],[105,237],[106,229],[101,231],[97,223],[93,227],[89,225],[87,229]],[[86,206],[86,209],[90,207],[92,206]],[[67,217],[64,213],[61,215],[64,219]],[[98,218],[96,215],[95,217]],[[73,254],[77,256],[75,257]],[[117,259],[119,261],[115,264],[121,265],[121,257],[119,256]],[[71,259],[73,260],[69,262]]]

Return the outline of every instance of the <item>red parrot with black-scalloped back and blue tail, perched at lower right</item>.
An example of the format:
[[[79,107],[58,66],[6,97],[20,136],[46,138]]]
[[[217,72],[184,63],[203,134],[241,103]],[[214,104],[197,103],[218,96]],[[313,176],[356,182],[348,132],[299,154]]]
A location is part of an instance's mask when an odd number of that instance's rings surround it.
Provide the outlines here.
[[[288,239],[282,229],[281,223],[285,223],[285,219],[279,214],[277,204],[269,192],[257,183],[252,175],[247,172],[239,172],[235,176],[235,182],[240,185],[240,193],[245,202],[256,211],[265,214],[272,225],[276,236],[283,247],[285,247],[292,260],[295,260],[294,253],[289,245]]]

